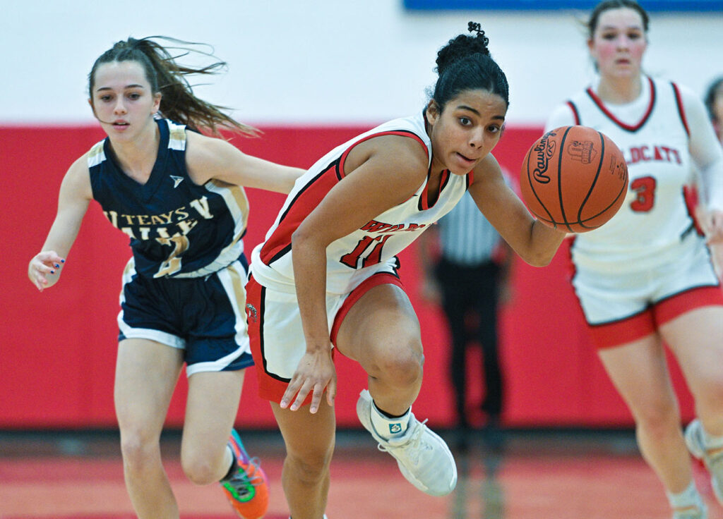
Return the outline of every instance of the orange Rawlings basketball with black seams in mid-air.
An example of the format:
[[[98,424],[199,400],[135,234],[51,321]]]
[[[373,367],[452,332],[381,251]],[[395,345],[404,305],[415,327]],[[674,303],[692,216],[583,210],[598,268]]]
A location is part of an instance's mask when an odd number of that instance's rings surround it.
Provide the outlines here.
[[[562,126],[537,139],[520,173],[522,199],[540,222],[588,232],[607,222],[628,192],[628,165],[608,136]]]

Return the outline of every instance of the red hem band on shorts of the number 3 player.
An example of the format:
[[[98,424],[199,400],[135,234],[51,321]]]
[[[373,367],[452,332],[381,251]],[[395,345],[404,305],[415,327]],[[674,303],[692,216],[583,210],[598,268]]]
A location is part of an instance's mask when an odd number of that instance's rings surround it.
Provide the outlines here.
[[[667,297],[643,312],[629,318],[588,325],[591,337],[598,349],[622,346],[654,333],[660,326],[690,310],[705,306],[723,306],[721,287],[696,287]],[[624,342],[621,342],[621,338]]]

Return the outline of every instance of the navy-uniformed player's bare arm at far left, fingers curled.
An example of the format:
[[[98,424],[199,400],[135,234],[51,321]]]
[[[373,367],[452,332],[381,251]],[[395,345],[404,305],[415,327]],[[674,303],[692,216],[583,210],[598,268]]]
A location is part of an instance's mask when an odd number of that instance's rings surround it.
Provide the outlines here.
[[[65,256],[78,235],[91,199],[93,190],[90,188],[87,155],[83,155],[65,174],[60,186],[58,212],[53,225],[42,250],[27,266],[27,276],[40,292],[58,282]]]

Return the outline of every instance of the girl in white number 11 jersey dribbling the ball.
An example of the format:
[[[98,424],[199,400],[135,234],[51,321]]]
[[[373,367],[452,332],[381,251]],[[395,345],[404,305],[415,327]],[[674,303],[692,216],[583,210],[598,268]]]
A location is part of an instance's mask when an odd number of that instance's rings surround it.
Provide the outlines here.
[[[531,218],[490,154],[502,134],[508,83],[479,24],[470,22],[469,30],[476,36],[459,35],[439,51],[439,79],[422,113],[322,157],[254,249],[249,336],[260,393],[286,442],[283,487],[294,519],[322,519],[325,510],[335,433],[333,348],[369,375],[357,414],[402,474],[432,495],[455,487],[450,450],[411,413],[424,354],[395,254],[465,191],[533,265],[549,263],[564,238]],[[301,409],[308,402],[308,411]]]

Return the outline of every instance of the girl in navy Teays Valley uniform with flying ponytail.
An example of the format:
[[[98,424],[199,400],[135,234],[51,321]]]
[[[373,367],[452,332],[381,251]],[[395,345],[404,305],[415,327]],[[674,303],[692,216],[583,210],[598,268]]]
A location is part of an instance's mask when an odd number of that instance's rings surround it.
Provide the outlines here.
[[[181,66],[155,39],[120,41],[93,64],[89,102],[107,137],[69,168],[28,275],[40,291],[58,281],[88,204],[98,201],[133,253],[123,274],[114,398],[135,512],[179,517],[159,440],[185,364],[184,472],[196,484],[220,481],[239,517],[257,519],[268,507],[268,481],[233,429],[252,365],[241,186],[288,193],[302,171],[200,133],[254,129],[195,97],[184,79],[223,62]]]

